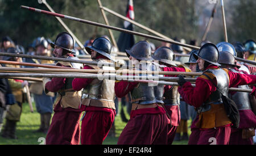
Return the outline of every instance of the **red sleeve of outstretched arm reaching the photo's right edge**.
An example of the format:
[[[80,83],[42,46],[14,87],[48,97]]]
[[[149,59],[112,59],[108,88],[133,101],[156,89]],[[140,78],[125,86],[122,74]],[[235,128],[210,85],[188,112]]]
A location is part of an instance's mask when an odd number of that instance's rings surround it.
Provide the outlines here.
[[[240,74],[229,71],[229,87],[253,85],[256,83],[256,75]]]

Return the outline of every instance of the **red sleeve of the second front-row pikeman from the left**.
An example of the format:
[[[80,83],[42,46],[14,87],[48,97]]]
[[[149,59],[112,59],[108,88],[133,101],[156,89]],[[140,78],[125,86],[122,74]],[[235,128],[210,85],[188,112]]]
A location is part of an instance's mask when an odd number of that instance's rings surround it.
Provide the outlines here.
[[[93,69],[90,66],[85,65],[84,69]],[[92,82],[92,78],[74,78],[72,82],[73,90],[80,91]]]

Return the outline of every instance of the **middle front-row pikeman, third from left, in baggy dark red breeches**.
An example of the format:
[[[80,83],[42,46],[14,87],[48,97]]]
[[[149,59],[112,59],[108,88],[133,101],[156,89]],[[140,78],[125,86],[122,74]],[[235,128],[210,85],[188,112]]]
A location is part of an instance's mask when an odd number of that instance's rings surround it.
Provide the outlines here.
[[[126,54],[135,70],[159,71],[158,66],[152,64],[154,59],[151,58],[151,47],[147,41],[139,41],[131,50],[126,50]],[[130,120],[117,144],[167,144],[168,118],[162,107],[164,85],[127,81],[115,83],[118,98],[129,92],[132,104]]]

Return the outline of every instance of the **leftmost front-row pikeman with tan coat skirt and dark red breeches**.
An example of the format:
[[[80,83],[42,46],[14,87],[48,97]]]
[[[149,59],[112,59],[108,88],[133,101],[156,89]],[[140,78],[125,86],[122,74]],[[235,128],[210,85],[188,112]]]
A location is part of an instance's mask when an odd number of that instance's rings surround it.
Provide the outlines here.
[[[74,44],[75,41],[69,33],[59,33],[55,43],[51,43],[54,56],[78,60],[73,50]],[[73,62],[57,62],[56,66],[82,68],[82,64]],[[81,91],[73,90],[72,81],[73,78],[43,78],[44,91],[57,92],[53,105],[55,113],[46,136],[46,144],[78,145],[80,143]]]

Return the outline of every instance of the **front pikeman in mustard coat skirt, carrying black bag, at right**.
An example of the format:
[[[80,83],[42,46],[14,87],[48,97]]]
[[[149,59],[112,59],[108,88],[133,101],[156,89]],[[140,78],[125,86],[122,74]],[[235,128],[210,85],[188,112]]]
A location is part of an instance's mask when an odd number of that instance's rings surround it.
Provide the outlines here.
[[[254,84],[256,75],[220,69],[220,64],[217,63],[219,52],[214,44],[204,44],[195,57],[203,75],[196,79],[196,87],[180,75],[178,91],[183,100],[196,107],[199,113],[195,124],[200,128],[197,144],[211,144],[213,138],[216,144],[228,144],[232,122],[226,115],[218,90],[228,96],[229,87]]]

